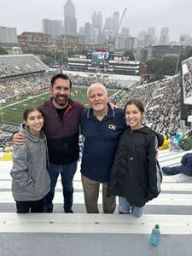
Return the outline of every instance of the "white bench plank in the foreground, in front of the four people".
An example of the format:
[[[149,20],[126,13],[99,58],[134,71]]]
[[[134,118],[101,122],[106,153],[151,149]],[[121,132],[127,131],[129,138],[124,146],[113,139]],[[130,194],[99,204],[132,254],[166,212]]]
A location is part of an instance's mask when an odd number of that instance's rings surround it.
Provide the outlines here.
[[[2,233],[115,233],[150,234],[160,224],[161,234],[191,235],[191,215],[0,213]]]

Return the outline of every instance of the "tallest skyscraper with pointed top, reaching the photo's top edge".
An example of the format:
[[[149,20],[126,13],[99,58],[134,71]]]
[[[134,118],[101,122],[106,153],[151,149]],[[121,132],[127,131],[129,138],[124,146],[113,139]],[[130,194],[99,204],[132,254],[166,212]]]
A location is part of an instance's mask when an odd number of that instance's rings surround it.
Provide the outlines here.
[[[64,5],[64,26],[67,35],[76,35],[77,19],[75,18],[75,7],[71,0]]]

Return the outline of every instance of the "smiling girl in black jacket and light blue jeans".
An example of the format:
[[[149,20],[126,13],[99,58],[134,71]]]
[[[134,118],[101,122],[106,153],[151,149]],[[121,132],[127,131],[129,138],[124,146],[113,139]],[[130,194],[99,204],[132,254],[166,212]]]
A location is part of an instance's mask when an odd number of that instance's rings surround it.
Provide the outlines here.
[[[119,139],[108,184],[108,196],[119,195],[119,213],[143,214],[143,206],[160,193],[157,138],[143,125],[142,102],[125,104],[127,129]]]

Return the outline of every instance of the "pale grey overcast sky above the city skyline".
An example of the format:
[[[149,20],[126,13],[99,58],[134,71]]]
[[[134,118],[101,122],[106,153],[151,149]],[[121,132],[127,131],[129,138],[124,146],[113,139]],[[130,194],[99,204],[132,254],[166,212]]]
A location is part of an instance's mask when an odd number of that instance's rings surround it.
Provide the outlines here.
[[[40,32],[43,19],[63,20],[64,3],[66,0],[0,0],[0,26],[16,27],[18,34]],[[182,33],[192,37],[192,0],[73,0],[73,4],[78,26],[90,21],[94,10],[100,10],[104,20],[113,11],[121,15],[127,7],[123,26],[130,28],[131,36],[148,26],[155,26],[159,36],[160,27],[168,26],[171,40]]]

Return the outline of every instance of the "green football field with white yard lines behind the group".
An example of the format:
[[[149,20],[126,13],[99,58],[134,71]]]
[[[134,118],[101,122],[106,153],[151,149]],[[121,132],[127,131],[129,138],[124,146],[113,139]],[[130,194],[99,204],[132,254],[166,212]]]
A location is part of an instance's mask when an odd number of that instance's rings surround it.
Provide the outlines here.
[[[114,90],[108,90],[109,95],[114,93]],[[22,122],[22,113],[26,106],[38,106],[49,99],[49,92],[39,96],[29,96],[17,102],[11,102],[0,108],[0,125],[3,123],[20,124]],[[86,88],[73,87],[72,98],[75,101],[81,102],[85,107],[88,106]]]

